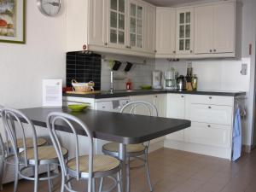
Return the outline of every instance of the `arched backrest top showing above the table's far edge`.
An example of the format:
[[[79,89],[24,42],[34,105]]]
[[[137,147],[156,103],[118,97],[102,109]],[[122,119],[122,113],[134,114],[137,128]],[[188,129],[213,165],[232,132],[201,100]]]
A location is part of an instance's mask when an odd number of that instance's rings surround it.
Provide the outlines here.
[[[144,101],[134,101],[127,103],[123,108],[121,108],[121,113],[125,113],[126,110],[128,110],[128,113],[135,114],[136,109],[143,108],[146,110],[145,113],[149,116],[158,116],[157,108],[154,106],[154,104],[150,102],[144,102]]]

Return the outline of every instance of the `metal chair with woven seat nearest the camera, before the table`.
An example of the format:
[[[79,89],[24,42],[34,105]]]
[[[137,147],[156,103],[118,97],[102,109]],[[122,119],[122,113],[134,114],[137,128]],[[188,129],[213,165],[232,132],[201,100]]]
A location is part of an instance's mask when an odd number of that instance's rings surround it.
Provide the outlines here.
[[[61,144],[56,133],[56,126],[59,124],[66,125],[73,133],[73,141],[75,141],[74,151],[75,157],[67,160],[63,159],[61,153]],[[89,154],[79,156],[79,137],[76,131],[76,127],[82,128],[86,136],[88,137],[89,143]],[[93,154],[93,137],[90,129],[87,125],[74,117],[73,115],[67,113],[49,113],[47,118],[47,127],[49,128],[49,135],[54,143],[55,150],[58,154],[59,161],[61,164],[61,192],[64,189],[68,191],[75,191],[72,189],[72,180],[77,181],[81,179],[88,180],[88,192],[95,192],[95,178],[99,177],[110,177],[113,179],[114,186],[109,190],[113,190],[116,186],[121,191],[120,183],[120,162],[116,158],[109,155],[94,155]],[[117,179],[113,177],[116,174]],[[102,184],[99,187],[99,191],[102,191]]]

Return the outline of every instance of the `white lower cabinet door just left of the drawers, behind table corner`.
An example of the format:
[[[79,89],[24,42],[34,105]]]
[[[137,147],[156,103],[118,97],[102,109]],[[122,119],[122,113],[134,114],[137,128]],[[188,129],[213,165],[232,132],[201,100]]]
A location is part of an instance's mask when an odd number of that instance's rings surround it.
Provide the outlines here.
[[[185,96],[181,94],[170,94],[167,96],[167,118],[185,119]],[[167,135],[168,139],[183,141],[184,131],[177,131]]]

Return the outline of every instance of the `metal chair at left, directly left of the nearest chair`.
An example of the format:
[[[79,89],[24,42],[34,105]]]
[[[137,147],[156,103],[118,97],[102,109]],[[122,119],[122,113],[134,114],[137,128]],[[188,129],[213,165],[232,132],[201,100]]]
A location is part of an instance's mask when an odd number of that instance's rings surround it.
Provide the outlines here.
[[[34,181],[34,192],[38,192],[38,181],[48,180],[49,191],[52,189],[52,179],[58,177],[59,174],[51,174],[50,166],[59,165],[59,160],[57,154],[55,153],[54,146],[39,146],[38,147],[38,137],[37,132],[32,124],[32,121],[26,117],[25,114],[21,113],[19,110],[13,108],[3,108],[2,109],[2,119],[4,131],[6,131],[9,137],[9,142],[11,144],[11,152],[9,153],[9,148],[5,148],[7,154],[5,154],[6,162],[11,159],[14,160],[15,164],[15,185],[14,191],[18,188],[19,177],[25,178],[27,180]],[[28,146],[25,136],[24,124],[28,125],[26,129],[32,131],[32,148]],[[16,131],[19,131],[22,139],[22,151],[18,148],[18,138],[16,136]],[[67,149],[61,148],[62,154],[67,156]],[[20,166],[22,166],[20,168]],[[39,177],[38,168],[39,166],[47,166],[47,176]],[[26,171],[31,169],[33,171],[33,177],[28,177]]]

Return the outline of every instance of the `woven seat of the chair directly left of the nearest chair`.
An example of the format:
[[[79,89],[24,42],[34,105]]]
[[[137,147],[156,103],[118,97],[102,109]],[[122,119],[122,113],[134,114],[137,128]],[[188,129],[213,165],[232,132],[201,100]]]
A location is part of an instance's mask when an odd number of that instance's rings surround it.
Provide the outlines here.
[[[67,155],[67,148],[61,148],[62,154]],[[20,153],[21,157],[24,157],[24,151]],[[34,149],[29,148],[26,150],[27,160],[34,160]],[[41,146],[38,147],[38,160],[58,160],[58,156],[55,152],[54,146]]]

